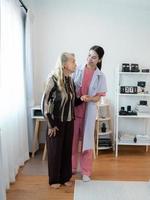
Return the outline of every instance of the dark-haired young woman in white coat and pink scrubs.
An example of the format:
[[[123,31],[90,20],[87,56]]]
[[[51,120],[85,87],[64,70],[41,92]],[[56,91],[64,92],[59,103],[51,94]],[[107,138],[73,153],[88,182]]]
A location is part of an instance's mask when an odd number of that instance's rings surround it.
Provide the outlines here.
[[[78,145],[81,141],[80,170],[83,181],[90,181],[92,173],[96,102],[106,93],[106,79],[101,71],[104,50],[93,46],[89,50],[87,63],[79,66],[73,76],[78,95],[85,103],[75,108],[75,122],[72,148],[72,173],[78,165]]]

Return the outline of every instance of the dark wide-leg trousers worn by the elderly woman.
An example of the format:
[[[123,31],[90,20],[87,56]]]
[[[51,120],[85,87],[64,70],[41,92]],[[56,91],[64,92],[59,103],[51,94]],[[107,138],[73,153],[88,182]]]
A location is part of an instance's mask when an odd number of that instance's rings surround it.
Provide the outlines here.
[[[47,135],[49,184],[63,184],[72,176],[72,140],[74,121],[58,122],[55,137]]]

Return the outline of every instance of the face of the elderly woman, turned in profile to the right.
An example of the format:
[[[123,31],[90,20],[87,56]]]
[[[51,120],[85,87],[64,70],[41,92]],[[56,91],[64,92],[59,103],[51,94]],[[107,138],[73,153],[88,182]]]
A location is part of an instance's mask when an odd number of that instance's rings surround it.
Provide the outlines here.
[[[76,60],[74,56],[69,56],[68,60],[65,63],[65,70],[67,70],[69,73],[73,73],[76,70]]]

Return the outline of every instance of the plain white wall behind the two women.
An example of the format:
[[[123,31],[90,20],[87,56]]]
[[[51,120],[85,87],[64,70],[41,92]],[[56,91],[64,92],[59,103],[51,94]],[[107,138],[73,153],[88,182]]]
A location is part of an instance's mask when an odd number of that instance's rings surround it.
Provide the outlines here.
[[[24,0],[33,13],[35,104],[62,51],[84,63],[92,45],[105,49],[103,71],[115,106],[115,73],[122,62],[150,66],[149,0]],[[87,3],[88,2],[88,3]]]

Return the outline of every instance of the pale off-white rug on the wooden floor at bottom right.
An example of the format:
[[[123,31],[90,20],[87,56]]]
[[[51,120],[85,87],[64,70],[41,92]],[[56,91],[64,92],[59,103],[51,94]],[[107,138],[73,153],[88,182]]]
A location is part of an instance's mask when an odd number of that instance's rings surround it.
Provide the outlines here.
[[[150,182],[76,180],[74,200],[150,200]]]

